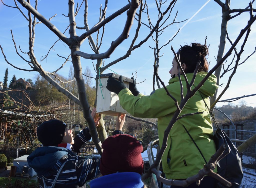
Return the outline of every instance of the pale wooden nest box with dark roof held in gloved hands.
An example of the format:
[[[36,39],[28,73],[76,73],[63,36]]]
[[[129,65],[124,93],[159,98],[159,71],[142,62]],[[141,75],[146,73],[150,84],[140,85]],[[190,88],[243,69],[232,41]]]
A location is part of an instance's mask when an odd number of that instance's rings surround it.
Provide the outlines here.
[[[120,105],[118,95],[116,93],[109,91],[106,88],[109,76],[116,78],[118,80],[120,75],[115,73],[100,75],[100,79],[98,80],[96,112],[100,114],[113,115],[113,116],[118,114],[127,114],[127,111],[124,110]],[[99,75],[97,75],[96,78],[99,78]],[[128,89],[129,89],[129,83],[132,83],[132,81],[133,80],[131,78],[127,78],[123,76],[124,85]]]

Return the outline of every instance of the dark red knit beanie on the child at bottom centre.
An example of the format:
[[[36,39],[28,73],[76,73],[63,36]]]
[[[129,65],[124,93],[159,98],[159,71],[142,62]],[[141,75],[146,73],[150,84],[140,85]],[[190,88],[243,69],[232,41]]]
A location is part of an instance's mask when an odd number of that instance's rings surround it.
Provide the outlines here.
[[[127,134],[108,137],[102,143],[100,172],[102,175],[116,172],[137,172],[142,174],[144,162],[143,147],[138,140]]]

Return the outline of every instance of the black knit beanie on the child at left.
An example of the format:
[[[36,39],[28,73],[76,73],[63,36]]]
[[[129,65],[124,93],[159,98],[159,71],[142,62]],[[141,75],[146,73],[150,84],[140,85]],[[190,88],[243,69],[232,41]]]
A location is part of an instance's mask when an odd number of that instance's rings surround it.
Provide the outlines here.
[[[60,120],[45,121],[37,127],[37,138],[44,146],[57,146],[61,143],[66,124]]]

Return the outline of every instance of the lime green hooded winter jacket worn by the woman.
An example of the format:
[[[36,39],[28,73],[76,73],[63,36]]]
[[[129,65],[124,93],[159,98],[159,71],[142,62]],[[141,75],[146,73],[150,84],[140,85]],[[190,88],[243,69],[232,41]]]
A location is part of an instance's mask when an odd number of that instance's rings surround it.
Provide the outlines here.
[[[207,72],[198,72],[195,79],[195,86],[206,76]],[[190,82],[193,73],[186,74]],[[184,96],[187,93],[184,76],[181,75]],[[213,96],[216,89],[216,77],[211,75],[204,85],[199,89],[208,107],[210,107],[209,96]],[[168,91],[178,100],[180,104],[180,83],[179,78],[169,80],[166,86]],[[193,89],[193,88],[192,88]],[[213,138],[209,111],[197,91],[191,97],[182,114],[204,112],[193,116],[185,116],[174,123],[167,140],[167,148],[162,156],[163,171],[167,179],[186,179],[198,173],[204,167],[205,161],[200,152],[185,131],[184,125],[197,146],[204,155],[206,161],[215,153],[216,147]],[[162,146],[164,131],[176,111],[174,101],[170,98],[164,88],[155,90],[150,96],[133,96],[129,89],[123,89],[118,94],[121,106],[135,117],[158,118],[158,135],[160,147]],[[215,170],[216,171],[216,170]]]

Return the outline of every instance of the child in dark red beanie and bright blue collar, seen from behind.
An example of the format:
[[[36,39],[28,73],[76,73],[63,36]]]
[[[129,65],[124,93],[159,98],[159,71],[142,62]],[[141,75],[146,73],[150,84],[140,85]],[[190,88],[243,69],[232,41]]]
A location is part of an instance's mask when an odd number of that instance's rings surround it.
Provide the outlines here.
[[[119,116],[123,125],[125,115]],[[102,143],[100,177],[90,182],[91,188],[144,188],[141,180],[144,161],[143,147],[138,140],[127,134],[108,137]]]

